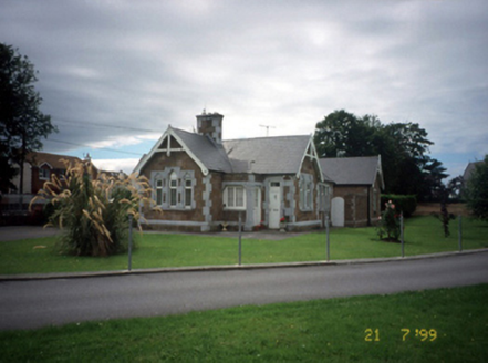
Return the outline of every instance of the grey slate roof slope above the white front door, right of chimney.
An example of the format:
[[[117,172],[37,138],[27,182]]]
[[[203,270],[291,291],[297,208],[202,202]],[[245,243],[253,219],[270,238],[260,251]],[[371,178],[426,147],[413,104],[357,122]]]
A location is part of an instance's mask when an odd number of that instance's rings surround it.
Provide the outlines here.
[[[274,136],[224,141],[233,173],[297,174],[310,136]]]

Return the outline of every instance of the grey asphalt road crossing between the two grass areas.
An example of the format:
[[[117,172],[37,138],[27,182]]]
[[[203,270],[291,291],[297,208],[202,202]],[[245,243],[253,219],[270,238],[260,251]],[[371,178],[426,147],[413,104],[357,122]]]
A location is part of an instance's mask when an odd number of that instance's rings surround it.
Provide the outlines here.
[[[0,282],[0,330],[488,283],[488,253],[382,263]]]

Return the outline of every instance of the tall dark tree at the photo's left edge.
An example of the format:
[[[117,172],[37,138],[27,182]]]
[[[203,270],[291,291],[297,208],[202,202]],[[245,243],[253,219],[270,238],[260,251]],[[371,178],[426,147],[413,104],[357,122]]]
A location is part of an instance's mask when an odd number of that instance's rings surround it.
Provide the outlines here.
[[[42,98],[33,83],[38,81],[33,64],[11,45],[0,43],[0,164],[1,188],[12,187],[12,164],[20,166],[20,190],[23,193],[23,162],[29,152],[42,148],[42,137],[56,127],[40,110]]]

